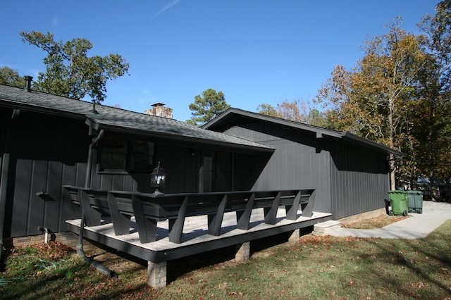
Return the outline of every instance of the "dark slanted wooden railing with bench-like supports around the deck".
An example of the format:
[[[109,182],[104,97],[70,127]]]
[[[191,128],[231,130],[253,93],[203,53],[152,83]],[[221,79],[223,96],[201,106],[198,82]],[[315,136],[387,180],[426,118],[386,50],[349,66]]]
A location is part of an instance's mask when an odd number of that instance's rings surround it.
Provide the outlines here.
[[[105,191],[65,185],[73,204],[80,206],[86,226],[101,224],[111,217],[115,235],[130,233],[130,218],[135,217],[141,243],[156,241],[157,223],[168,220],[170,242],[180,243],[185,218],[207,215],[209,235],[221,235],[224,213],[235,212],[237,229],[249,230],[252,210],[263,208],[264,222],[276,224],[280,206],[285,218],[297,220],[313,213],[315,189],[280,191],[210,192],[185,194],[146,194],[140,192]]]

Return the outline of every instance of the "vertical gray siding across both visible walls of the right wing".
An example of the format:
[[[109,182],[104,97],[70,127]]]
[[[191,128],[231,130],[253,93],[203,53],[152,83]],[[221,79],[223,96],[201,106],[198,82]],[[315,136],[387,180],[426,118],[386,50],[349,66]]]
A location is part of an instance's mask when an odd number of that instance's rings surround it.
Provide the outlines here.
[[[276,149],[254,189],[315,188],[315,210],[334,218],[384,206],[388,164],[380,151],[263,122],[230,127],[226,133]]]

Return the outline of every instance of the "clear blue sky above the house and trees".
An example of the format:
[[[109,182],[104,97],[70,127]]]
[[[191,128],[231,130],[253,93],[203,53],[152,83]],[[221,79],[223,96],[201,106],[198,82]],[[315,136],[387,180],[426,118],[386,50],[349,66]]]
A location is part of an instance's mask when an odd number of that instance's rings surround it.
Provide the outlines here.
[[[309,100],[334,65],[352,68],[364,41],[387,32],[395,17],[416,23],[434,14],[434,0],[34,0],[0,4],[0,67],[37,77],[45,53],[21,41],[21,31],[56,40],[89,39],[88,56],[121,54],[130,75],[107,83],[103,104],[144,112],[162,102],[173,117],[206,89],[228,104]],[[87,99],[89,100],[89,99]]]

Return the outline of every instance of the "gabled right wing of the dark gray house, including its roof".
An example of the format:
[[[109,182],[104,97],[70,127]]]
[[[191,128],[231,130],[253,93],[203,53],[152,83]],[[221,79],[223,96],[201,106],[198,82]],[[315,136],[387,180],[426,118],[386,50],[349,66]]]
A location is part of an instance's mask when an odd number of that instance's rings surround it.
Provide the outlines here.
[[[390,177],[388,155],[402,156],[381,144],[302,123],[236,108],[203,126],[275,149],[263,169],[259,156],[245,163],[252,189],[316,189],[318,211],[340,219],[385,206]],[[243,162],[244,163],[244,162]]]

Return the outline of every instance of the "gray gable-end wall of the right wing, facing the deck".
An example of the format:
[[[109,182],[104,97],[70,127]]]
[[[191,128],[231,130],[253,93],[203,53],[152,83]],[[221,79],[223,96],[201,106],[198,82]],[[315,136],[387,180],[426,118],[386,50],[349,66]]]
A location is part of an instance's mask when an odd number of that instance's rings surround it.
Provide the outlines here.
[[[230,127],[225,133],[276,149],[253,190],[313,188],[316,189],[314,210],[331,212],[330,158],[315,133],[266,123]]]

